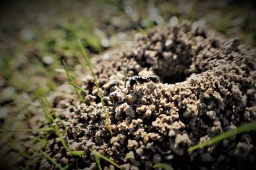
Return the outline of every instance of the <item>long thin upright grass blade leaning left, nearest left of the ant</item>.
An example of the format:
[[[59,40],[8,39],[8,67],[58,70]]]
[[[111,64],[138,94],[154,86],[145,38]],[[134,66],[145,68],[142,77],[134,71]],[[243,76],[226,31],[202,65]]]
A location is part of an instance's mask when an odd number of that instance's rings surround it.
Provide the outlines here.
[[[111,135],[111,137],[112,137],[112,136],[113,136],[113,133],[112,133],[112,129],[111,129],[111,126],[110,126],[110,121],[109,121],[108,113],[107,113],[107,111],[106,111],[106,107],[105,107],[105,104],[104,104],[104,101],[103,101],[103,98],[102,98],[102,94],[101,94],[101,91],[100,91],[100,88],[99,88],[99,84],[98,84],[97,78],[96,78],[96,76],[95,76],[95,74],[94,74],[94,72],[93,72],[92,65],[91,65],[91,63],[90,63],[90,60],[89,60],[89,58],[88,58],[88,56],[87,56],[87,54],[86,54],[84,48],[83,48],[83,45],[82,45],[81,41],[78,40],[78,42],[79,42],[80,48],[81,48],[81,50],[82,50],[82,52],[83,52],[84,59],[86,60],[88,66],[89,66],[89,68],[90,68],[90,70],[91,70],[91,72],[92,72],[92,76],[93,76],[93,79],[94,79],[94,81],[95,81],[95,85],[96,85],[96,87],[97,87],[97,89],[98,89],[98,96],[100,97],[100,102],[101,102],[101,104],[102,104],[102,107],[103,107],[103,110],[104,110],[104,114],[105,114],[105,117],[106,117],[106,121],[107,121],[107,123],[108,123],[108,129],[109,129],[110,135]]]

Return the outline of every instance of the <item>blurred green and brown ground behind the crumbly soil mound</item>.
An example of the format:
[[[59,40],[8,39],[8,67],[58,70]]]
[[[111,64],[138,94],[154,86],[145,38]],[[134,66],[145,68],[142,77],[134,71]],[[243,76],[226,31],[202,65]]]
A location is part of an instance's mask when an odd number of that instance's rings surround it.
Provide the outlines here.
[[[67,81],[61,59],[74,73],[83,65],[78,39],[93,58],[135,45],[152,27],[189,20],[255,47],[255,7],[238,0],[1,1],[0,128],[33,128],[36,89],[49,93]],[[21,159],[6,143],[1,139],[0,155],[16,165]]]

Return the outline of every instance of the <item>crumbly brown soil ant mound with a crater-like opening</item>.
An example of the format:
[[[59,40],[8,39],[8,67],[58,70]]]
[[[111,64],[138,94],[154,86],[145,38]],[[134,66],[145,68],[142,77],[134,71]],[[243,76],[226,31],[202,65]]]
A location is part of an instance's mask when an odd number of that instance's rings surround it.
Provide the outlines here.
[[[138,82],[124,88],[128,77],[158,75],[162,82]],[[52,97],[59,111],[60,130],[70,150],[49,134],[45,148],[62,166],[97,169],[96,150],[123,169],[153,169],[157,163],[174,169],[255,169],[255,132],[230,137],[220,143],[188,152],[188,148],[227,130],[256,120],[255,52],[239,39],[207,35],[200,27],[154,29],[130,50],[109,53],[93,66],[109,115],[109,134],[93,77],[82,77],[86,104],[74,91]],[[129,81],[127,81],[129,84]],[[105,169],[114,166],[100,161]],[[250,167],[248,167],[250,165]],[[40,168],[51,168],[48,160]]]

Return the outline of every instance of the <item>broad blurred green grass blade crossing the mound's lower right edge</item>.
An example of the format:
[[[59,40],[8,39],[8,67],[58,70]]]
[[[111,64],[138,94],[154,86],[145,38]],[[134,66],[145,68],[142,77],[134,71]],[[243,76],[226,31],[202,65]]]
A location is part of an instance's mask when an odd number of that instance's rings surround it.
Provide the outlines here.
[[[214,138],[212,138],[210,141],[207,141],[205,143],[196,144],[195,146],[192,146],[188,148],[188,151],[193,151],[199,148],[204,148],[205,146],[209,146],[214,143],[218,143],[222,141],[223,139],[227,139],[228,137],[232,137],[233,135],[241,134],[244,132],[248,132],[250,130],[256,130],[256,121],[252,123],[246,123],[245,125],[242,125],[240,127],[237,127],[234,130],[228,130],[227,132],[220,134]]]

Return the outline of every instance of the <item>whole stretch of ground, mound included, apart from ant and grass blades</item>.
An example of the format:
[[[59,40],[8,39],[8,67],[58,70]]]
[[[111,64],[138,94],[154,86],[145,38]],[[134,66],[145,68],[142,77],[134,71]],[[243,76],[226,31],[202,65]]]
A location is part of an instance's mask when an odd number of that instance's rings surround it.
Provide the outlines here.
[[[36,89],[43,88],[61,119],[58,125],[67,146],[85,152],[83,157],[68,155],[51,131],[4,131],[1,155],[13,161],[1,164],[3,167],[54,169],[49,160],[28,149],[41,144],[42,151],[62,167],[72,163],[79,169],[97,168],[89,148],[124,169],[150,169],[159,162],[175,169],[255,168],[246,167],[255,162],[253,132],[192,153],[186,151],[189,146],[255,121],[253,4],[118,1],[86,4],[90,8],[81,2],[14,4],[13,11],[3,11],[1,17],[1,128],[47,127],[34,95]],[[56,5],[60,10],[54,8]],[[232,11],[239,5],[241,10]],[[145,6],[147,13],[140,11]],[[198,9],[193,10],[193,6]],[[209,11],[202,10],[205,6]],[[231,10],[223,15],[221,8]],[[100,12],[109,15],[99,17]],[[92,56],[113,137],[77,39]],[[88,94],[83,93],[85,104],[72,86],[65,84],[67,77],[59,69],[62,59],[77,75],[77,84],[87,90]],[[125,88],[127,60],[128,77],[156,74],[161,82]],[[31,158],[20,156],[13,144],[20,144],[20,150]],[[101,164],[112,168],[103,160]]]

